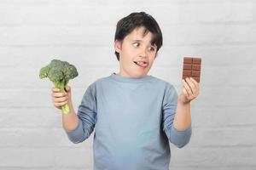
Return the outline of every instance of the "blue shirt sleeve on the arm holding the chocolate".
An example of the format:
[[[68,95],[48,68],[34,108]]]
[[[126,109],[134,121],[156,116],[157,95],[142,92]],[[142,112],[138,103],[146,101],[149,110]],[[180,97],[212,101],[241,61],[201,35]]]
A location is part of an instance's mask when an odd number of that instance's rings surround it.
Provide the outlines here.
[[[163,130],[166,133],[167,138],[172,144],[175,144],[178,148],[182,148],[189,143],[192,131],[191,127],[183,131],[178,131],[173,126],[173,120],[177,109],[177,92],[171,84],[167,84],[162,109]]]

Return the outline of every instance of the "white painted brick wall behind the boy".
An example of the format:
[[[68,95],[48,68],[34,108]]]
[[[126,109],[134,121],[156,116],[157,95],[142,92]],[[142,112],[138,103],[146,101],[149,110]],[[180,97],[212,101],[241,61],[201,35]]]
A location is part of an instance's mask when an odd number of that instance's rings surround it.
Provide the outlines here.
[[[193,135],[181,150],[171,144],[170,169],[255,170],[255,8],[254,0],[0,0],[0,170],[92,169],[92,136],[69,142],[38,71],[55,56],[76,65],[77,108],[91,82],[118,71],[115,25],[133,11],[152,14],[163,31],[150,74],[180,92],[183,56],[202,57]]]

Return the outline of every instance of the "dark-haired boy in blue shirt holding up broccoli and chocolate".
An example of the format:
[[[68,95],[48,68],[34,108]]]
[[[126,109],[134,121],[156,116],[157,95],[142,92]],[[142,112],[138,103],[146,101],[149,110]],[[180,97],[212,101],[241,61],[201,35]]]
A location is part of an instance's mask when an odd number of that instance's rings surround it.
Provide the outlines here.
[[[93,150],[96,170],[167,170],[169,141],[181,148],[191,135],[190,101],[199,94],[193,78],[183,80],[182,94],[168,82],[148,76],[162,45],[160,27],[146,13],[119,20],[114,38],[119,73],[90,84],[78,114],[72,106],[71,88],[53,88],[63,127],[73,143],[89,138],[95,129]]]

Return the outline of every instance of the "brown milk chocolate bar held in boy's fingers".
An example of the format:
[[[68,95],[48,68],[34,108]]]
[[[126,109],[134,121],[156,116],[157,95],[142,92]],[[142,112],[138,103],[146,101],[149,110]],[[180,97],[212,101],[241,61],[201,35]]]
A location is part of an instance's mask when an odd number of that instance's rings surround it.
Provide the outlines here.
[[[196,82],[200,82],[201,58],[184,57],[183,58],[183,79],[193,77]]]

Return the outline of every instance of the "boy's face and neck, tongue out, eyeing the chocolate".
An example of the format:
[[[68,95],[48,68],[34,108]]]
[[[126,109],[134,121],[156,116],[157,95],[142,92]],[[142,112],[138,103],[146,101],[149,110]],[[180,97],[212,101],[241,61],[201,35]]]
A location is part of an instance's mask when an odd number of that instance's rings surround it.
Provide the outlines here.
[[[116,41],[115,50],[119,53],[119,75],[122,77],[145,77],[153,65],[156,45],[152,45],[153,34],[144,35],[144,27],[131,31],[122,42]]]

